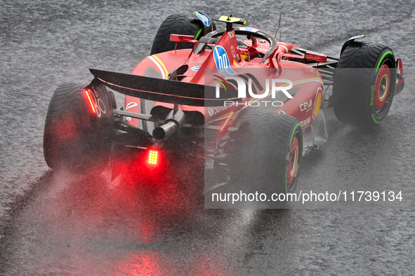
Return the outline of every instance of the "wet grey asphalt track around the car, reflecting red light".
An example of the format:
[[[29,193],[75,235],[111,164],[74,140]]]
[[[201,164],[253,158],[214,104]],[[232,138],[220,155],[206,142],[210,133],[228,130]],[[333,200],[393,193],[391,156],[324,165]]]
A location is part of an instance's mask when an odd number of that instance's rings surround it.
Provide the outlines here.
[[[166,16],[196,10],[244,15],[268,31],[284,11],[283,41],[331,55],[354,34],[393,48],[407,80],[385,123],[362,132],[328,109],[329,142],[304,159],[298,188],[402,190],[404,200],[205,210],[192,174],[149,195],[147,187],[110,182],[108,172],[79,178],[48,170],[41,143],[55,87],[88,83],[88,68],[129,73],[150,52]],[[256,8],[225,1],[1,2],[0,274],[413,274],[413,10],[407,1],[259,1]]]

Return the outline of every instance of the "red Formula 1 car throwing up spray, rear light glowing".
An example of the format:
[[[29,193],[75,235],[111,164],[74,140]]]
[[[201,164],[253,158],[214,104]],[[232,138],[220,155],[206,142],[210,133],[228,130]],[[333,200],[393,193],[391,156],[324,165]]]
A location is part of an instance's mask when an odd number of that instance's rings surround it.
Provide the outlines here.
[[[83,170],[111,159],[116,177],[124,160],[147,181],[185,163],[214,179],[207,190],[291,193],[302,157],[327,140],[324,85],[333,85],[338,119],[360,127],[379,125],[404,86],[402,62],[363,36],[346,41],[338,59],[241,18],[215,20],[226,27],[203,13],[171,15],[131,74],[91,69],[91,84],[61,85],[46,117],[48,166]],[[121,109],[111,90],[126,95]]]

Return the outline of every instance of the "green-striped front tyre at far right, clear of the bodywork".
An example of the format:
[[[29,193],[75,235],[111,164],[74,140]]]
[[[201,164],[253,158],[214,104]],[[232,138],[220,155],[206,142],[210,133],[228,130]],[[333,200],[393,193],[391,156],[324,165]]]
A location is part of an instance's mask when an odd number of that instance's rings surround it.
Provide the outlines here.
[[[390,48],[371,42],[348,44],[334,71],[332,103],[338,120],[376,127],[395,95],[396,64]]]

